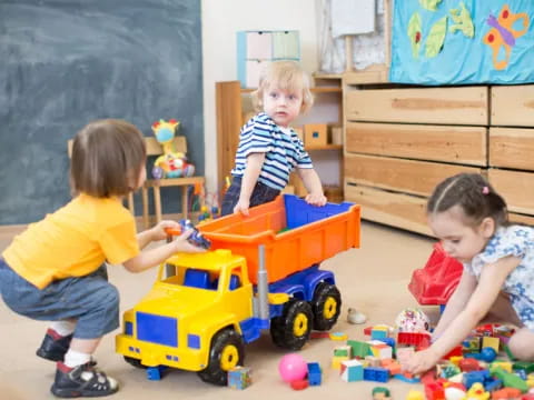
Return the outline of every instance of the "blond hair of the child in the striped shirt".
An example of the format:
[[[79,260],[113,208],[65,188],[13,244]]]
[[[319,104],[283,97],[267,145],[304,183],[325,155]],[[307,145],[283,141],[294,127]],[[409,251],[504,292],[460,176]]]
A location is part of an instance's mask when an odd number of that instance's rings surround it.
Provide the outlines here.
[[[296,61],[273,61],[261,71],[258,89],[251,93],[256,111],[264,108],[264,93],[271,86],[280,89],[303,90],[301,112],[306,112],[314,104],[314,96],[309,90],[312,81],[306,71]]]

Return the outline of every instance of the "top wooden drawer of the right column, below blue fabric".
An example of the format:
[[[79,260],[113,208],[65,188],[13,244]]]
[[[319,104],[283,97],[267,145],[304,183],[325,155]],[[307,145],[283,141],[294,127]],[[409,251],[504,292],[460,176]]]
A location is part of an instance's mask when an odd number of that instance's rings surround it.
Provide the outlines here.
[[[534,84],[492,87],[492,126],[534,127]]]

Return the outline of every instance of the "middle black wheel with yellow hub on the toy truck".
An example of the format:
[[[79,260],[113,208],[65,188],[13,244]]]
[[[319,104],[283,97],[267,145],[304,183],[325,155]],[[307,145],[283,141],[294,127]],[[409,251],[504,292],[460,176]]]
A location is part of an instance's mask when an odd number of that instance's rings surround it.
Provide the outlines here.
[[[300,350],[309,340],[313,323],[312,306],[304,300],[291,300],[281,316],[270,321],[273,342],[283,349]]]

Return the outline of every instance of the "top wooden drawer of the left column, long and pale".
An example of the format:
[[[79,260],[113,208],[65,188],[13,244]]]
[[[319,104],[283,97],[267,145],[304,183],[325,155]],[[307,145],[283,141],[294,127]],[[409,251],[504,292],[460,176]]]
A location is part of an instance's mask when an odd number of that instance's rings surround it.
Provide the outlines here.
[[[487,87],[347,90],[349,121],[487,126]]]

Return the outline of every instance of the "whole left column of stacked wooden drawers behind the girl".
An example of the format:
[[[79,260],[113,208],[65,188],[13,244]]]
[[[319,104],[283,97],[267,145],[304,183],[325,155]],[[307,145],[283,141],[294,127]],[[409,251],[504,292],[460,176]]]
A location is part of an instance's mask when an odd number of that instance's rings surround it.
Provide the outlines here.
[[[435,184],[487,166],[488,89],[353,77],[344,78],[345,199],[360,203],[365,219],[432,234],[425,206]]]

